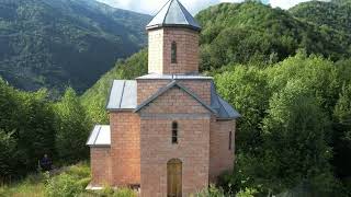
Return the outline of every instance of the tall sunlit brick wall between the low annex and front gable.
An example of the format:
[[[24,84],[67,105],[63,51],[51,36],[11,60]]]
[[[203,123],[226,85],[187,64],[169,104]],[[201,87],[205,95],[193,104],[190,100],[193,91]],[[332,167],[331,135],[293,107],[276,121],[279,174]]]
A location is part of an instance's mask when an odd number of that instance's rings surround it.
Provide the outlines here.
[[[111,123],[112,185],[140,183],[140,120],[133,112],[113,112]]]

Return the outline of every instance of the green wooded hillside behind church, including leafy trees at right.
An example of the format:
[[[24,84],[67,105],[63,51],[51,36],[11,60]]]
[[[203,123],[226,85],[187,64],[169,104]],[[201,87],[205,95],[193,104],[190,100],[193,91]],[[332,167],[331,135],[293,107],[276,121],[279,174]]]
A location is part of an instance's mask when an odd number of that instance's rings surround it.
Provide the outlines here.
[[[292,12],[245,2],[196,15],[201,69],[242,115],[236,167],[219,185],[259,196],[350,196],[350,35]],[[118,61],[82,96],[88,116],[107,123],[112,80],[146,68],[146,50]]]

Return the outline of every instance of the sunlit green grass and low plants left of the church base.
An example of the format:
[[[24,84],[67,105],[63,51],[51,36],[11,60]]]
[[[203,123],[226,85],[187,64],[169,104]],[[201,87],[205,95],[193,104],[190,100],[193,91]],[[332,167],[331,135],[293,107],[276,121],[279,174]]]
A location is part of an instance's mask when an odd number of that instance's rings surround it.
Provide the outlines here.
[[[61,167],[55,175],[32,174],[19,183],[0,186],[0,197],[136,197],[128,188],[88,192],[90,179],[90,166],[81,162]]]

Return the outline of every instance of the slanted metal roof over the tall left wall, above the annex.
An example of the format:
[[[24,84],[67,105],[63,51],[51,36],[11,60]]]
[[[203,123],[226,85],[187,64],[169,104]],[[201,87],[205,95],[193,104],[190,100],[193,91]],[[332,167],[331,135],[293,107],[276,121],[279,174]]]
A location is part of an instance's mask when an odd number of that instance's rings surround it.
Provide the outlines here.
[[[137,84],[134,80],[114,80],[106,108],[134,109],[137,106]]]

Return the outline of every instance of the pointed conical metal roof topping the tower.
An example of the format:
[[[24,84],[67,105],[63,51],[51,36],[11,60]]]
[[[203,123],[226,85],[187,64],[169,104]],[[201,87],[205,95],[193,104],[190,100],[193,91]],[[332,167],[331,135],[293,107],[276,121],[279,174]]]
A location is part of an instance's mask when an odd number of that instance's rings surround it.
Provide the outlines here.
[[[147,30],[163,26],[183,26],[201,31],[200,24],[179,0],[169,0],[146,26]]]

